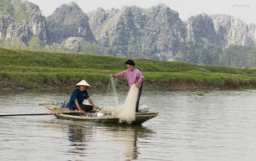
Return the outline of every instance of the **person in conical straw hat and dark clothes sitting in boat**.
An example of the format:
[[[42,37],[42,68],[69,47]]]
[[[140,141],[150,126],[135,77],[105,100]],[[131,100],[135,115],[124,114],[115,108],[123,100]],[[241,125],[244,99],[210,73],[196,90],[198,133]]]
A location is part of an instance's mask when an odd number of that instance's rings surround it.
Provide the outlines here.
[[[86,112],[91,111],[93,109],[97,109],[97,106],[91,100],[89,94],[86,91],[87,87],[91,87],[84,79],[81,80],[77,85],[75,85],[77,89],[72,92],[72,95],[69,99],[69,109],[71,110],[79,110],[83,116],[87,116]],[[83,104],[84,100],[88,100],[91,105]]]

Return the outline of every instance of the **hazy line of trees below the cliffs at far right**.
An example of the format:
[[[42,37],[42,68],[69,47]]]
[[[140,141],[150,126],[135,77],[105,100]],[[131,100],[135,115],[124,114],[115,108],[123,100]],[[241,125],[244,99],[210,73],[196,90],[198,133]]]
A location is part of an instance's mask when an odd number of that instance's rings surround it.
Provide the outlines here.
[[[181,44],[175,60],[195,64],[256,67],[256,47],[230,45],[226,49],[218,46],[201,47],[193,42]]]

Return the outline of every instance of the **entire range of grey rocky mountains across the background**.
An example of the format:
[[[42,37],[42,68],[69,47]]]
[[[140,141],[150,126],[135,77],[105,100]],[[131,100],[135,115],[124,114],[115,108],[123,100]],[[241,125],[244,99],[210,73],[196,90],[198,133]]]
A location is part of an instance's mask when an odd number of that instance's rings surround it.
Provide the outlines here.
[[[229,15],[200,14],[183,22],[178,12],[164,4],[148,9],[98,8],[88,15],[74,2],[57,8],[45,18],[39,7],[28,1],[0,1],[0,39],[28,44],[37,36],[42,44],[64,44],[79,52],[82,40],[97,42],[103,49],[131,57],[172,58],[180,44],[193,42],[225,49],[230,45],[256,46],[256,25]],[[185,43],[184,43],[185,44]]]

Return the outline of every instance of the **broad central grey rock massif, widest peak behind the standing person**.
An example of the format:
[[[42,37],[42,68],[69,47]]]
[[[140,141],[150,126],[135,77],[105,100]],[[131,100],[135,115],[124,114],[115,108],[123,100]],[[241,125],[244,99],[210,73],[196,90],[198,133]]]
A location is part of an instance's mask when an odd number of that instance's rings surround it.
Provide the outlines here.
[[[148,9],[97,9],[89,14],[89,23],[100,44],[117,47],[128,55],[155,52],[173,55],[186,34],[178,13],[163,4]]]

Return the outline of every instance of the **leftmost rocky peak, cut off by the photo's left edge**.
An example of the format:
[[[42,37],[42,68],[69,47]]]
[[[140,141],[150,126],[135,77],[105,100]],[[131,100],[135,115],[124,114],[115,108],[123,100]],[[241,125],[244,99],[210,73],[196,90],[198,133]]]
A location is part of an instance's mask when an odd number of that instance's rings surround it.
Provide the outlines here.
[[[27,44],[37,36],[42,44],[47,42],[45,17],[39,7],[28,1],[0,1],[0,39],[12,39]]]

